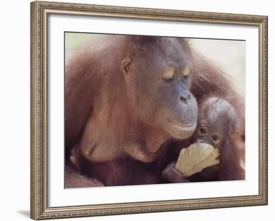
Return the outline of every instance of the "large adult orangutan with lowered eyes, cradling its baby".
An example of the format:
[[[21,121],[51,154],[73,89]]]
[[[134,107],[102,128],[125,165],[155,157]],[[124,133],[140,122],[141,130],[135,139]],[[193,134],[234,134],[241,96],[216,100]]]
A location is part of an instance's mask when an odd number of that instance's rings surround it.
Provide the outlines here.
[[[66,159],[100,186],[159,183],[170,141],[192,135],[196,99],[212,92],[230,95],[243,120],[230,81],[186,39],[106,35],[65,67]]]

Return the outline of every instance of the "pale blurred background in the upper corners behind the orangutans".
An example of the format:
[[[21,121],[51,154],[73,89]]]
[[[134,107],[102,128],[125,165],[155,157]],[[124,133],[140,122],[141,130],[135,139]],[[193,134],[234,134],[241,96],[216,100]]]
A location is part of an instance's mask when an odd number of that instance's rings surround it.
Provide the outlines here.
[[[104,34],[65,32],[65,61],[73,50]],[[245,97],[245,41],[189,38],[193,49],[231,76],[235,89]]]

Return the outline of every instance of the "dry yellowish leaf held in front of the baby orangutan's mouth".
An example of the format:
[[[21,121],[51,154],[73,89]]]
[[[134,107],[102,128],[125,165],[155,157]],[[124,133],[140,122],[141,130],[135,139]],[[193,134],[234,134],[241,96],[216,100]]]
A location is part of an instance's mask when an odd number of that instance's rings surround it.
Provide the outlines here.
[[[219,164],[218,149],[212,145],[196,143],[183,148],[178,156],[175,169],[180,171],[184,178],[202,171],[206,167]]]

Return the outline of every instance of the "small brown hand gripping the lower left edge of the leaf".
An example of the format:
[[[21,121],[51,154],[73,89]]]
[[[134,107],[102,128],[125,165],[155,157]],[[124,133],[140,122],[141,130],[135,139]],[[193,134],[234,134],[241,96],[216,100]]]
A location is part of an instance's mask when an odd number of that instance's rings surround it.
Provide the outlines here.
[[[190,181],[184,179],[183,175],[174,168],[175,161],[168,164],[162,171],[162,178],[170,183],[189,183]]]

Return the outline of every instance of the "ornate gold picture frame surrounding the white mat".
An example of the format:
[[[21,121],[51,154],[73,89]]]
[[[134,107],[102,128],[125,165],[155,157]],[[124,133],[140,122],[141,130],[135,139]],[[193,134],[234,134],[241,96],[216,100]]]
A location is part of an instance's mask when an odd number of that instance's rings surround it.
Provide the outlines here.
[[[267,205],[267,16],[226,14],[216,12],[180,11],[153,8],[134,8],[109,5],[91,5],[78,3],[61,3],[33,1],[30,3],[30,108],[31,108],[31,147],[30,147],[30,218],[33,220],[72,218],[87,216],[105,216],[119,214],[136,214],[197,210],[210,208],[229,208]],[[49,16],[93,17],[109,19],[130,19],[130,21],[163,21],[211,25],[241,25],[255,27],[258,31],[258,144],[246,147],[255,150],[258,165],[257,194],[240,194],[238,196],[144,200],[119,203],[79,203],[71,205],[49,205],[49,139],[50,116],[48,94],[49,85],[48,33]],[[129,22],[130,22],[129,21]],[[74,31],[74,30],[67,30]],[[200,37],[200,36],[197,36]],[[226,36],[224,36],[226,38]],[[61,51],[63,53],[63,51]],[[63,61],[60,60],[63,64]],[[249,63],[246,63],[249,65]],[[55,72],[54,74],[60,74]],[[248,76],[249,73],[246,73]],[[249,83],[249,82],[248,82]],[[60,85],[60,87],[63,85]],[[247,86],[247,85],[246,85]],[[246,110],[246,115],[249,110]],[[60,134],[60,136],[63,136]],[[249,137],[249,134],[245,134]],[[52,141],[51,141],[52,142]],[[63,147],[61,147],[63,150]],[[60,174],[64,177],[64,174]],[[136,187],[139,188],[139,187]],[[99,190],[99,189],[97,189]],[[100,189],[101,190],[101,189]],[[103,189],[102,189],[103,190]],[[138,189],[136,189],[138,190]],[[74,190],[77,191],[77,190]],[[96,191],[96,189],[95,189]],[[104,191],[104,190],[103,190]],[[109,193],[109,192],[108,192]],[[117,201],[118,202],[118,201]]]

